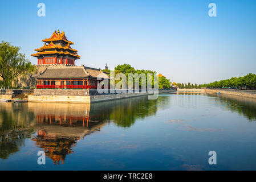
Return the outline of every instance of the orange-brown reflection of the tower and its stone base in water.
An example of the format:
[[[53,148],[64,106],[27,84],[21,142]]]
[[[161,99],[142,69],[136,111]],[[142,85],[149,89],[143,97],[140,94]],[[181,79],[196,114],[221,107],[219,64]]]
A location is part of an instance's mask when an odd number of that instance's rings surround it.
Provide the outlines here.
[[[74,152],[72,147],[78,140],[99,131],[107,123],[97,118],[109,118],[105,113],[90,117],[90,104],[30,103],[28,109],[36,115],[37,136],[31,140],[54,164],[64,164],[66,156]]]

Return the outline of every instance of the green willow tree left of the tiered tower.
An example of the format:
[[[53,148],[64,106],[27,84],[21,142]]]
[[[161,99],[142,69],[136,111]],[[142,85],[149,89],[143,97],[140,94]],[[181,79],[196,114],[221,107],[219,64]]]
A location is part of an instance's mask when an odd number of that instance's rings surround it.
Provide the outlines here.
[[[19,49],[8,42],[0,43],[0,86],[3,88],[10,88],[15,78],[35,71],[35,66],[26,59],[25,54],[19,53]]]

